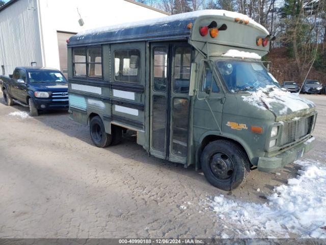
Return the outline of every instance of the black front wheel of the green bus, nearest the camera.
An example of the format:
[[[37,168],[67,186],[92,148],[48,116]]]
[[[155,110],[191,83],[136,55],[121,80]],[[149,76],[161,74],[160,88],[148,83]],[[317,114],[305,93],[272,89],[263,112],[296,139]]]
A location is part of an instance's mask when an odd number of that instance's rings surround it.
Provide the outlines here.
[[[232,190],[246,182],[250,171],[246,152],[229,140],[207,144],[201,166],[207,181],[222,190]]]

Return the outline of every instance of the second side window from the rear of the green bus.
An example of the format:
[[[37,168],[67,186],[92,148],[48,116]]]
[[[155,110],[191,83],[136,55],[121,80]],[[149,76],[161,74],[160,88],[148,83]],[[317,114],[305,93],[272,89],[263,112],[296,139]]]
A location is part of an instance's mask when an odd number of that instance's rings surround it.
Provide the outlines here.
[[[88,54],[88,77],[102,78],[102,47],[89,47]]]

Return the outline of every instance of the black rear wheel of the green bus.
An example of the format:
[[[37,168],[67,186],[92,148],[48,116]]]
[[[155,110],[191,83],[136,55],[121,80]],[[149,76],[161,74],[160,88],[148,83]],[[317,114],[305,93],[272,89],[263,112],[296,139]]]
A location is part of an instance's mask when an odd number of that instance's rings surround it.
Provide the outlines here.
[[[93,143],[104,148],[112,143],[113,137],[105,132],[104,124],[99,116],[94,116],[90,121],[90,134]]]

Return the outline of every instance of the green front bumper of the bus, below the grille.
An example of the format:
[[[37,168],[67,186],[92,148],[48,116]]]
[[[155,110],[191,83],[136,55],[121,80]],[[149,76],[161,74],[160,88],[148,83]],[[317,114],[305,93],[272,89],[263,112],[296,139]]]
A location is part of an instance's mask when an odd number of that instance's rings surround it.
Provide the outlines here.
[[[282,168],[286,164],[294,162],[301,158],[305,153],[309,152],[313,148],[314,143],[315,137],[311,136],[306,141],[275,157],[260,157],[258,160],[258,170],[270,173],[278,168]]]

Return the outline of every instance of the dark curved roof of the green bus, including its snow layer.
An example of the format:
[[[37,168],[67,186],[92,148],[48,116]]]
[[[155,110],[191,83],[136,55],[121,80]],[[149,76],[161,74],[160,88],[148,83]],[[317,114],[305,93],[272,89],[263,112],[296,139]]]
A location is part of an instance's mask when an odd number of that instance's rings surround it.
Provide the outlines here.
[[[72,36],[68,46],[144,40],[184,40],[191,35],[191,29],[187,28],[187,24],[194,23],[201,16],[249,20],[248,26],[259,29],[260,32],[268,35],[268,31],[263,26],[247,15],[225,10],[199,10],[83,31]]]

